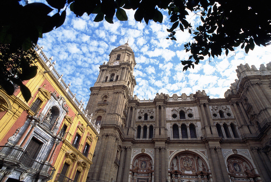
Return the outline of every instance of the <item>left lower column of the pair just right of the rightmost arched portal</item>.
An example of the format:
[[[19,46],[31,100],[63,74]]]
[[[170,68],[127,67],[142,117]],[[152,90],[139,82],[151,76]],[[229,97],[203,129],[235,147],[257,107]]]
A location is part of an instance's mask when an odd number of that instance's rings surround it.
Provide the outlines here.
[[[258,166],[258,171],[261,175],[261,178],[263,180],[263,182],[267,182],[267,181],[270,181],[270,177],[268,175],[268,171],[266,170],[266,168],[264,167],[264,164],[260,158],[260,155],[258,153],[258,147],[250,147],[250,150],[255,158],[255,161],[254,163],[257,164]]]

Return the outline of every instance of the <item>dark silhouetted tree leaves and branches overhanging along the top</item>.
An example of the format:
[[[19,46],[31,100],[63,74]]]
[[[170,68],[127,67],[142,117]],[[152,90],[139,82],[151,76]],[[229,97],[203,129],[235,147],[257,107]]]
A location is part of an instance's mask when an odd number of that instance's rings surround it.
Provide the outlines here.
[[[223,51],[228,55],[234,47],[253,50],[255,44],[271,44],[271,1],[251,0],[47,0],[43,3],[20,5],[20,0],[0,0],[0,41],[13,51],[28,50],[42,34],[63,24],[66,8],[76,16],[96,14],[94,21],[105,19],[114,23],[128,19],[125,9],[135,10],[134,19],[146,24],[150,20],[163,21],[161,11],[167,10],[172,26],[167,39],[175,40],[176,31],[188,29],[194,34],[192,42],[184,45],[190,52],[188,60],[181,60],[183,70],[194,68],[204,56],[215,57]],[[48,14],[54,9],[57,13]],[[186,19],[188,11],[200,16],[202,24],[192,27]]]

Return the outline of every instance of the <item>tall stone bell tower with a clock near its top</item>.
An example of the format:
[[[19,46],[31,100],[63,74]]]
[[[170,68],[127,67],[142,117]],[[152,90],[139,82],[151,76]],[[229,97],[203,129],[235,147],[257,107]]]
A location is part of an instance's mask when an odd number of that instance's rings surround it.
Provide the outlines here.
[[[96,124],[101,125],[100,135],[89,171],[89,181],[114,181],[122,150],[121,136],[127,117],[127,105],[136,85],[133,75],[136,65],[133,49],[125,43],[113,49],[109,61],[100,65],[100,72],[86,106],[93,113]]]

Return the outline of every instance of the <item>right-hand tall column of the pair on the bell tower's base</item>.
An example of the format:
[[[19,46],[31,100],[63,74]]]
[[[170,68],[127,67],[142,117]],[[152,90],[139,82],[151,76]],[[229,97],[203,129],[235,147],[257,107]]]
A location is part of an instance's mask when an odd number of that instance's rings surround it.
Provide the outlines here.
[[[108,134],[105,155],[104,155],[104,157],[102,157],[103,163],[102,163],[102,169],[101,169],[100,177],[99,177],[99,179],[101,179],[101,180],[105,179],[105,172],[106,172],[106,168],[109,164],[109,157],[110,157],[110,152],[111,152],[111,148],[112,148],[112,144],[113,144],[113,137],[114,137],[113,134]]]

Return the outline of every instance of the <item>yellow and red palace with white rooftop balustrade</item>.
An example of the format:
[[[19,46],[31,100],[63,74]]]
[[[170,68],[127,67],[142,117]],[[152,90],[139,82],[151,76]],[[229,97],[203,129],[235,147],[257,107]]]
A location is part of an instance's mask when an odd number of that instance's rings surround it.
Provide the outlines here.
[[[24,81],[28,102],[16,85],[0,90],[0,181],[86,181],[100,127],[37,45],[38,74]]]

